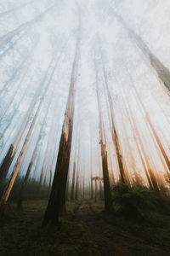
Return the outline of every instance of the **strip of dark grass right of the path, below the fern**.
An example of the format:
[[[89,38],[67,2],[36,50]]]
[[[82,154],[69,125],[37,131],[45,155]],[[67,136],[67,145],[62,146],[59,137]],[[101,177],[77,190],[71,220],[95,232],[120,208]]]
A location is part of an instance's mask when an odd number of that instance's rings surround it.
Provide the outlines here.
[[[149,244],[157,244],[160,247],[170,246],[170,215],[169,212],[152,211],[149,219],[138,221],[134,218],[117,216],[112,212],[104,212],[104,201],[89,201],[93,211],[104,218],[105,221],[117,227],[118,230],[127,231],[147,241]]]

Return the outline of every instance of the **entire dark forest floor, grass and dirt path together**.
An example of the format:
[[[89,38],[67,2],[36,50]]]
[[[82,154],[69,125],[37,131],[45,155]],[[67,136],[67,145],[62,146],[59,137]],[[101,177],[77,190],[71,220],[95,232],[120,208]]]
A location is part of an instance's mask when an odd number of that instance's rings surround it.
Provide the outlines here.
[[[170,219],[161,227],[135,224],[106,216],[103,201],[68,201],[60,227],[42,228],[46,206],[47,201],[26,201],[18,212],[8,204],[0,218],[0,256],[170,255]]]

